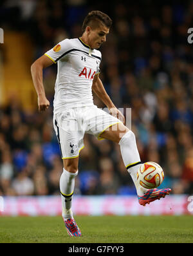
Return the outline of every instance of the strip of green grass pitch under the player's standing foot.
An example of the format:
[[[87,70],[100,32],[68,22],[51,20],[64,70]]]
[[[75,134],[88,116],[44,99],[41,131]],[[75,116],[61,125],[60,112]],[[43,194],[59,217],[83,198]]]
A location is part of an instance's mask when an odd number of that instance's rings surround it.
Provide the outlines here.
[[[62,217],[0,217],[0,243],[193,242],[193,216],[75,217],[82,237],[69,237]]]

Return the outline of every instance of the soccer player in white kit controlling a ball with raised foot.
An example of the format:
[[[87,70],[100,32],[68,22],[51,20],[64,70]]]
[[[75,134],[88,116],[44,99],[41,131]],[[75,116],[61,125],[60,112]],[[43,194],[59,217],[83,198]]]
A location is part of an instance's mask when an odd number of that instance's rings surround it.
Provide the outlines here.
[[[118,111],[99,78],[101,53],[112,21],[109,16],[92,11],[84,19],[82,36],[64,39],[37,59],[31,67],[33,84],[37,91],[39,111],[46,111],[47,100],[42,81],[42,70],[57,63],[53,101],[53,126],[57,134],[64,169],[60,177],[62,217],[70,236],[81,235],[73,219],[71,204],[78,174],[78,157],[84,147],[84,134],[93,134],[98,140],[112,140],[120,151],[133,182],[139,203],[145,205],[170,193],[170,189],[145,189],[136,180],[142,162],[134,133],[124,125],[124,115]],[[92,90],[104,102],[109,113],[93,104]]]

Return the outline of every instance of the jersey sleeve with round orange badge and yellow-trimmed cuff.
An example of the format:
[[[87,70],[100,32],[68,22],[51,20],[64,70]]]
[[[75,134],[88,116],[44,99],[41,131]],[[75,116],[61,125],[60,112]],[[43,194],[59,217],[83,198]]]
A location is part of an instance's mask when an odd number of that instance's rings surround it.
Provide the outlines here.
[[[61,59],[64,54],[68,53],[68,51],[71,49],[69,41],[69,39],[64,39],[55,45],[55,47],[48,50],[48,52],[46,52],[44,55],[50,58],[54,63],[57,63],[57,61],[59,61],[59,59]]]

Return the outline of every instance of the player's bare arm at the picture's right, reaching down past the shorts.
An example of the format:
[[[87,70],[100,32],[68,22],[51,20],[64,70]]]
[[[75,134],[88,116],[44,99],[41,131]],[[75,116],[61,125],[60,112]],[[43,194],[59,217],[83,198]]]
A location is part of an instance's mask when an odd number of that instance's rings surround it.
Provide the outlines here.
[[[95,78],[93,79],[92,89],[96,96],[98,96],[98,98],[100,98],[100,100],[102,100],[102,102],[107,106],[109,113],[125,123],[124,115],[115,107],[113,101],[111,101],[111,98],[107,94],[106,89],[99,78],[99,74],[96,74]]]

